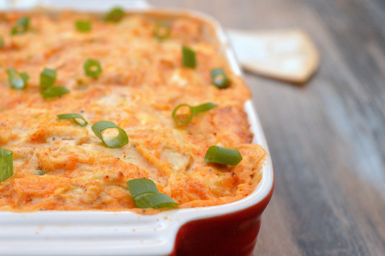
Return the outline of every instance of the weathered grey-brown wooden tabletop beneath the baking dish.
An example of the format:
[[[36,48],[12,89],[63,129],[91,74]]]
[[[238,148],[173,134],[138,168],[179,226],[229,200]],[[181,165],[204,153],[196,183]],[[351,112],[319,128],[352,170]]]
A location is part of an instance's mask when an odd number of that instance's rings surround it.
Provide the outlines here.
[[[245,74],[276,175],[254,255],[385,255],[385,2],[149,2],[311,35],[321,66],[307,84]]]

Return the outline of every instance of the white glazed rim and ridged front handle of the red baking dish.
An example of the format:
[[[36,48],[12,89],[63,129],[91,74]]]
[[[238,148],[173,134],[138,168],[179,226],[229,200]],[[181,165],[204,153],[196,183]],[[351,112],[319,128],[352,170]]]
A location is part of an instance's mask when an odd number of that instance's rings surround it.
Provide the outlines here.
[[[75,2],[75,1],[74,1]],[[75,10],[76,6],[72,6]],[[84,9],[81,9],[85,11]],[[233,72],[242,76],[233,50],[221,25],[213,17],[196,11],[143,8],[130,12],[184,14],[212,24],[224,47]],[[160,212],[143,216],[131,211],[0,211],[0,251],[2,255],[169,255],[179,228],[189,221],[241,211],[263,200],[273,189],[274,173],[268,146],[251,99],[244,104],[253,143],[267,153],[263,177],[254,192],[228,204]],[[41,242],[44,241],[44,246]],[[58,250],[58,248],[60,248]]]

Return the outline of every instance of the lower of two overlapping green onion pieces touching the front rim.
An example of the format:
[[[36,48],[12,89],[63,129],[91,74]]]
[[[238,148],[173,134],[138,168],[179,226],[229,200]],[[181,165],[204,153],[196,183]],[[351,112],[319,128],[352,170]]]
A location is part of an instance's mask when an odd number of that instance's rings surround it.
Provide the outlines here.
[[[135,205],[138,208],[169,208],[175,207],[178,204],[174,202],[168,195],[163,193],[149,193],[138,200],[135,200]]]

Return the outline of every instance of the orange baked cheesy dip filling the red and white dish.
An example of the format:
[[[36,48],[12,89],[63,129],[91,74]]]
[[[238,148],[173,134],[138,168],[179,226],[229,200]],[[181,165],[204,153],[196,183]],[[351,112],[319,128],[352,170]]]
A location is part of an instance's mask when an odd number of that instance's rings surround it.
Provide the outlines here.
[[[138,178],[154,181],[179,208],[251,194],[265,152],[251,143],[244,112],[250,91],[231,71],[214,27],[172,13],[123,13],[112,21],[70,10],[0,13],[0,147],[13,152],[13,175],[0,182],[0,210],[159,212],[134,204],[126,182]],[[162,36],[154,32],[159,22],[167,24]],[[183,47],[195,54],[195,67],[183,64]],[[89,59],[100,64],[97,76],[85,71]],[[213,84],[216,68],[228,77],[226,88]],[[63,93],[46,97],[46,71],[55,71],[53,86]],[[172,116],[180,104],[208,102],[215,108],[188,123]],[[88,124],[57,117],[67,113]],[[99,121],[121,128],[128,143],[107,147],[91,129]],[[101,135],[112,140],[117,128]],[[213,145],[236,149],[243,160],[205,162]]]

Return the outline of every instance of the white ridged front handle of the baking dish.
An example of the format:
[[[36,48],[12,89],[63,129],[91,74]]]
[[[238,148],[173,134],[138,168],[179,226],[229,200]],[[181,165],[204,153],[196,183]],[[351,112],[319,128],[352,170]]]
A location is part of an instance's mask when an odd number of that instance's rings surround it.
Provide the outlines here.
[[[174,249],[178,210],[133,212],[0,211],[2,256],[166,256]],[[169,217],[167,217],[169,216]]]

